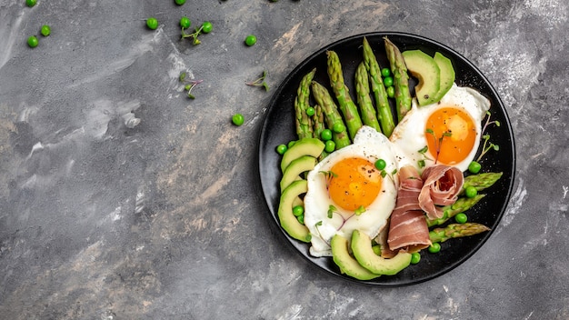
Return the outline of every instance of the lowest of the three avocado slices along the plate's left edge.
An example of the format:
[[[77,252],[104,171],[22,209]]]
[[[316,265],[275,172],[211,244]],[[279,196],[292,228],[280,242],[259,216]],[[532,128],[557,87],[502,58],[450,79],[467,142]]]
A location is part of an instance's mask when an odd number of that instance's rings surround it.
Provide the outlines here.
[[[278,218],[284,231],[296,240],[302,242],[310,242],[310,231],[306,225],[298,222],[293,214],[293,203],[298,195],[306,193],[308,183],[306,180],[296,180],[288,185],[281,195],[281,201],[278,205]]]

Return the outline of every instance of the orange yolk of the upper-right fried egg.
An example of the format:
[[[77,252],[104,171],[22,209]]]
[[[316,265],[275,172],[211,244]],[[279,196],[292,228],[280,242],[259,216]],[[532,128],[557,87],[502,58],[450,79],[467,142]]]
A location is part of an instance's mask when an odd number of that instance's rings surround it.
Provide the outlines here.
[[[476,127],[473,118],[462,109],[443,107],[427,119],[425,137],[436,163],[455,165],[473,149]]]

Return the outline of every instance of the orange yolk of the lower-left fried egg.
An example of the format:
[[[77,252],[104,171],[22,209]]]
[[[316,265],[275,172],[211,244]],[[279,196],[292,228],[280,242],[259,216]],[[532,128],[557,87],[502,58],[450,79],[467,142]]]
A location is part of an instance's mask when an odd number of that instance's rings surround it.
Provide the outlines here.
[[[381,173],[366,159],[346,158],[333,165],[331,171],[328,193],[345,210],[371,205],[381,190]]]

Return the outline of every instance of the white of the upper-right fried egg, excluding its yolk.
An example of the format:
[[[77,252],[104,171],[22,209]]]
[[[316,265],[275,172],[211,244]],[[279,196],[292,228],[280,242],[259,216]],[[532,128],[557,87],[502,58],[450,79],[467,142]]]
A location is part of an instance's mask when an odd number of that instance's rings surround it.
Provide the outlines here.
[[[425,124],[429,115],[432,115],[434,111],[445,106],[460,108],[474,120],[476,130],[474,146],[463,161],[453,165],[461,171],[468,169],[468,165],[474,160],[474,156],[480,145],[482,120],[486,112],[490,109],[490,101],[473,88],[462,87],[456,84],[451,87],[438,103],[419,106],[416,100],[413,100],[411,110],[404,116],[403,121],[395,127],[394,132],[389,138],[394,145],[394,152],[398,155],[398,159],[400,160],[400,167],[403,165],[414,165],[417,170],[421,171],[430,165],[434,165],[436,155],[433,155],[431,150],[428,150],[423,155],[419,153],[419,150],[423,149],[426,145]],[[420,160],[424,160],[423,168],[419,167]]]

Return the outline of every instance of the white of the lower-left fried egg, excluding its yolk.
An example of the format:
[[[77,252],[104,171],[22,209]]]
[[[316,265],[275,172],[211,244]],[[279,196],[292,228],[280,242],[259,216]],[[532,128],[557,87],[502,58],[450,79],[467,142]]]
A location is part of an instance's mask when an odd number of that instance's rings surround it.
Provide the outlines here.
[[[354,156],[365,158],[372,164],[377,159],[384,159],[386,163],[384,170],[387,173],[397,169],[396,158],[389,140],[366,125],[355,135],[354,144],[334,151],[316,165],[307,175],[308,192],[304,196],[304,225],[312,235],[311,255],[332,255],[329,243],[336,234],[350,238],[352,232],[358,229],[374,238],[384,227],[394,209],[399,181],[396,174],[384,177],[379,194],[361,215],[354,215],[354,212],[334,204],[328,195],[326,177],[322,172],[329,172],[339,161]],[[330,205],[334,205],[338,212],[332,217],[328,217]],[[347,220],[344,222],[344,219]]]

